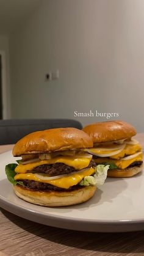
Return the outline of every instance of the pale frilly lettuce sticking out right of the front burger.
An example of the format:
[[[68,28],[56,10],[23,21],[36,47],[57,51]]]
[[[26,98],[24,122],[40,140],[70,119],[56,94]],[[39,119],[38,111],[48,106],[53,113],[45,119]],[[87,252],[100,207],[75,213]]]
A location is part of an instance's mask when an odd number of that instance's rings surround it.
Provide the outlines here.
[[[99,164],[96,166],[96,173],[93,176],[85,176],[84,179],[79,183],[81,186],[101,186],[107,178],[107,170],[109,166]]]

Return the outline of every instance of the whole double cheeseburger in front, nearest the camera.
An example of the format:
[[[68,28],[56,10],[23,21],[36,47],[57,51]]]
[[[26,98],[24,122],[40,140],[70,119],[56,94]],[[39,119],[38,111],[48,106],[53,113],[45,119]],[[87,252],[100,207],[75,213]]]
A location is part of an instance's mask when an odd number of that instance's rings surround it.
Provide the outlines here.
[[[5,167],[16,196],[48,207],[75,205],[90,199],[103,185],[108,167],[96,166],[84,152],[93,141],[76,128],[55,128],[28,134],[13,147],[18,164]]]

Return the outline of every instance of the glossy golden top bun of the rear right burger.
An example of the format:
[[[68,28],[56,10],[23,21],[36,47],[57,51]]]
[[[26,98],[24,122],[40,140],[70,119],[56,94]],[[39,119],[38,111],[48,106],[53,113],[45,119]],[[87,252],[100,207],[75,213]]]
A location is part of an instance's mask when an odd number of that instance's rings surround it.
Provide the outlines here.
[[[119,141],[137,134],[135,128],[123,121],[92,123],[83,129],[93,139],[93,143]]]

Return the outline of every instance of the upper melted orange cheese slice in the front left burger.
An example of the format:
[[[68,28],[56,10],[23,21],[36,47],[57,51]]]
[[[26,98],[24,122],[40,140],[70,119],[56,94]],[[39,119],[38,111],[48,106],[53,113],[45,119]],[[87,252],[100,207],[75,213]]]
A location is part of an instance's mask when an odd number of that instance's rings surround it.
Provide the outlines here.
[[[40,160],[31,164],[18,164],[15,168],[15,172],[25,174],[28,170],[32,170],[37,166],[55,163],[67,164],[67,166],[72,166],[76,170],[81,170],[86,168],[90,164],[91,160],[92,158],[82,156],[58,156],[56,158]]]

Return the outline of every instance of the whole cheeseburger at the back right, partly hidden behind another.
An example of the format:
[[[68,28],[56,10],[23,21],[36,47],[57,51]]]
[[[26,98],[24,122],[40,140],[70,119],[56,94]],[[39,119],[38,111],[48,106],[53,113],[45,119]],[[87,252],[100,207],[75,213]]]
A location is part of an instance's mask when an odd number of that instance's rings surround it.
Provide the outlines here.
[[[95,163],[109,164],[108,177],[132,177],[142,170],[142,147],[132,138],[137,131],[129,123],[93,123],[83,131],[93,139],[93,148],[86,151],[93,155]]]

